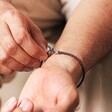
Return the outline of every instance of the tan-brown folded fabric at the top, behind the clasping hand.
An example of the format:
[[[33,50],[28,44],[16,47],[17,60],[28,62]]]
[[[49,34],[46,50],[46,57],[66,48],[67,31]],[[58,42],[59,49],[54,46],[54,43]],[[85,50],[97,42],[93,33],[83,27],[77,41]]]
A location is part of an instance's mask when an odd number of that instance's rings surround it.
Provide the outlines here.
[[[63,19],[58,0],[11,0],[11,3],[42,29],[53,27]]]

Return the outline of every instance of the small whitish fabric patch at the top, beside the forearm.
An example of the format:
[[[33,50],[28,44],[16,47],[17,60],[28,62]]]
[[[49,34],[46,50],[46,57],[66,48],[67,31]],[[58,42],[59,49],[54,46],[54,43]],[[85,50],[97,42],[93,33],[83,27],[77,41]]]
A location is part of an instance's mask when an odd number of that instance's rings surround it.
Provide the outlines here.
[[[60,0],[63,4],[62,13],[68,19],[72,14],[73,10],[75,10],[80,3],[81,0]]]

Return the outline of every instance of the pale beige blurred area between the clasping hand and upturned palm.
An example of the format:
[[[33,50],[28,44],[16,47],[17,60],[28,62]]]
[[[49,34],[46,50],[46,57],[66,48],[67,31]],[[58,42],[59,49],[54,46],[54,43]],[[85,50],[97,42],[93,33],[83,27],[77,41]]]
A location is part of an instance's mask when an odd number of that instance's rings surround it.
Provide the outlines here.
[[[20,91],[30,74],[31,72],[18,72],[11,82],[3,84],[0,89],[2,105],[12,96],[18,98]]]

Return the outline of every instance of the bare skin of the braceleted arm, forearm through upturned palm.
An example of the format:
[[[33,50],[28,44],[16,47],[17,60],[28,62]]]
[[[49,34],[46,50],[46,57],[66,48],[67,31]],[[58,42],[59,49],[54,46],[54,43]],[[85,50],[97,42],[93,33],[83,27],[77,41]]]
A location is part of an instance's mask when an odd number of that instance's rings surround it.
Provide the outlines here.
[[[88,71],[112,50],[111,15],[111,0],[82,0],[55,49],[76,55]],[[34,104],[33,112],[73,112],[79,103],[76,84],[80,77],[76,60],[54,54],[31,74],[19,102],[29,99]]]

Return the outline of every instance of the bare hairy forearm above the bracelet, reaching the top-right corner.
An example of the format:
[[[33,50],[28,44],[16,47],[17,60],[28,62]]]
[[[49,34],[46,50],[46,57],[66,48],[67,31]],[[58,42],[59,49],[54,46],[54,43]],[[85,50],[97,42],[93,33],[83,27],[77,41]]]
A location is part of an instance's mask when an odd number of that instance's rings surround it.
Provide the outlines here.
[[[111,0],[83,0],[55,48],[79,57],[86,71],[112,49]]]

